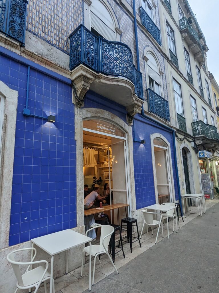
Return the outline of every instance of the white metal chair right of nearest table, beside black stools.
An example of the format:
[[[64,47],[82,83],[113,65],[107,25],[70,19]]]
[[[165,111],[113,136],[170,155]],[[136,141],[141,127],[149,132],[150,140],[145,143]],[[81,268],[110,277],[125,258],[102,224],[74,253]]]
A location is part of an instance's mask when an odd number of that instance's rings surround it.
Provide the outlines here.
[[[114,269],[116,270],[117,274],[119,274],[119,272],[117,271],[117,268],[115,267],[111,257],[109,256],[108,253],[108,246],[109,246],[109,240],[111,238],[111,235],[114,232],[114,228],[110,225],[100,225],[100,226],[95,226],[91,229],[89,229],[88,231],[86,231],[86,236],[87,233],[89,231],[91,231],[92,229],[97,229],[100,228],[101,229],[101,233],[100,233],[100,244],[99,245],[91,245],[91,255],[94,256],[94,263],[93,263],[93,279],[92,279],[92,285],[94,284],[94,274],[95,274],[95,263],[96,263],[96,258],[98,255],[100,254],[107,254]],[[86,246],[84,248],[83,254],[82,254],[82,263],[81,263],[81,277],[82,277],[82,273],[83,273],[83,265],[84,265],[84,253],[86,253],[86,255],[90,255],[90,247]],[[99,258],[97,258],[99,260]],[[100,262],[100,260],[99,260]],[[101,263],[101,262],[100,262]]]

